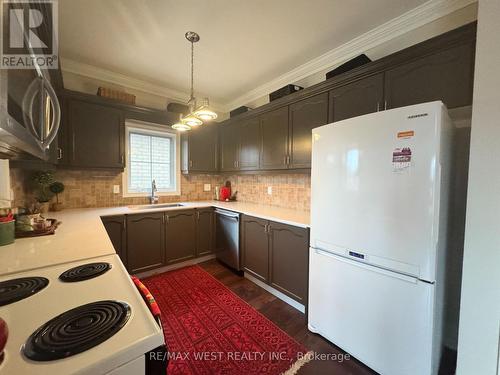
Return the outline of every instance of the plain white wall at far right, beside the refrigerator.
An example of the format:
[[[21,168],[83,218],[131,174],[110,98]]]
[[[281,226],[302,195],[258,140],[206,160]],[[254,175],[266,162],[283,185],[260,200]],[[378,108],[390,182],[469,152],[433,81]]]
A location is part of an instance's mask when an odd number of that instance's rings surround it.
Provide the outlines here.
[[[498,374],[500,1],[480,0],[457,374]]]

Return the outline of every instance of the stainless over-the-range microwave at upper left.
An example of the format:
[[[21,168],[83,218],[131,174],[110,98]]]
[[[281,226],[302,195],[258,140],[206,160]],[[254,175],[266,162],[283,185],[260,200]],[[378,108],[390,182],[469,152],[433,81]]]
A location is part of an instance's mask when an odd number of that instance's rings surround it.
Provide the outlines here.
[[[1,16],[5,22],[3,10]],[[26,53],[35,57],[29,42],[25,45]],[[54,152],[61,107],[50,70],[32,61],[29,69],[0,69],[0,157],[28,154],[48,160]]]

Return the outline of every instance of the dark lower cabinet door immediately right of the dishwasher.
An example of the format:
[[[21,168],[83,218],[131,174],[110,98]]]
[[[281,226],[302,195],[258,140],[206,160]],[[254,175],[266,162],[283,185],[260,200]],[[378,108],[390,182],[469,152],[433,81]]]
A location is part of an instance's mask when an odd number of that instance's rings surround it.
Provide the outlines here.
[[[269,280],[267,220],[244,215],[241,224],[243,269],[267,283]]]

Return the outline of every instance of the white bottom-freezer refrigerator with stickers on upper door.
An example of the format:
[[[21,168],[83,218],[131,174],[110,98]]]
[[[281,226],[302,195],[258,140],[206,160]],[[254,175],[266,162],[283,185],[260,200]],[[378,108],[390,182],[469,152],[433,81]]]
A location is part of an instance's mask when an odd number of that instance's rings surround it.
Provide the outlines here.
[[[312,133],[309,329],[381,374],[437,374],[453,137],[445,106]]]

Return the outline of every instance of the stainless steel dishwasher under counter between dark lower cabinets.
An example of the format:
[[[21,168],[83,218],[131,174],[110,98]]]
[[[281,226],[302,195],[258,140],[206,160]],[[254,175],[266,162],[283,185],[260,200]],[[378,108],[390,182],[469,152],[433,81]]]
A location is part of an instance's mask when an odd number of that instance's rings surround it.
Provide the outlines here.
[[[240,214],[216,208],[215,228],[217,259],[240,271]]]

